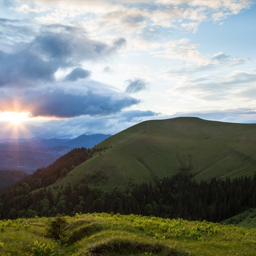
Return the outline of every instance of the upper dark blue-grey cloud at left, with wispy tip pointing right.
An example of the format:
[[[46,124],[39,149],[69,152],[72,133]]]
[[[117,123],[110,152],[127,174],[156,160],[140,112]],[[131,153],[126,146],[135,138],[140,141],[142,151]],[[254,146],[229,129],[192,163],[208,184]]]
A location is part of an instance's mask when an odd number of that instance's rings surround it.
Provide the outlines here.
[[[8,21],[2,19],[0,23]],[[19,25],[14,24],[12,21],[12,28],[18,29]],[[107,58],[126,42],[125,38],[118,38],[112,44],[106,44],[92,40],[85,31],[70,26],[44,26],[40,35],[35,36],[35,31],[32,31],[31,36],[26,35],[26,38],[31,38],[30,42],[21,40],[18,43],[13,37],[12,45],[2,47],[0,86],[38,86],[38,80],[54,81],[56,72],[67,67],[75,69],[66,79],[76,81],[89,75],[86,70],[76,69],[83,61]]]

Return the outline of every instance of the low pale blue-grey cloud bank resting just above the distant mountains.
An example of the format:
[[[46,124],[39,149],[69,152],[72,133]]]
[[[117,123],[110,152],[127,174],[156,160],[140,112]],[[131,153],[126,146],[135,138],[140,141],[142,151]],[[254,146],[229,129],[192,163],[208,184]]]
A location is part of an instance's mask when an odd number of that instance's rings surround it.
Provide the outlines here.
[[[42,120],[44,129],[38,125],[26,124],[34,136],[42,138],[74,138],[86,134],[116,134],[145,120],[159,116],[153,111],[126,110],[108,116],[82,115],[60,120]]]

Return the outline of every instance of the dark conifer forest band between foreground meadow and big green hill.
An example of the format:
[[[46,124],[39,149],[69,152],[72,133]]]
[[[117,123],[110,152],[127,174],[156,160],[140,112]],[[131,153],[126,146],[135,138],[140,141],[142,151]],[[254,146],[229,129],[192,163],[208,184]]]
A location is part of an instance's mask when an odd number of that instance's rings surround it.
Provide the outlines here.
[[[163,218],[184,218],[218,222],[256,207],[256,173],[237,177],[196,182],[190,172],[133,188],[112,191],[76,184],[54,191],[42,188],[31,192],[23,182],[0,195],[1,219],[56,216],[76,212],[113,212]]]

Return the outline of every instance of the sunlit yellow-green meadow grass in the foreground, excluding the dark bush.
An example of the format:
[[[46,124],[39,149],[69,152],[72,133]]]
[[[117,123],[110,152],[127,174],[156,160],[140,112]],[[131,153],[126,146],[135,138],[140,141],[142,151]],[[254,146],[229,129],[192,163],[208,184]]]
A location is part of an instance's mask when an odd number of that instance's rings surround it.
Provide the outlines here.
[[[35,244],[49,246],[51,255],[72,256],[248,256],[256,250],[255,228],[105,213],[65,218],[67,236],[58,241],[46,237],[49,218],[0,221],[0,255],[35,255]]]

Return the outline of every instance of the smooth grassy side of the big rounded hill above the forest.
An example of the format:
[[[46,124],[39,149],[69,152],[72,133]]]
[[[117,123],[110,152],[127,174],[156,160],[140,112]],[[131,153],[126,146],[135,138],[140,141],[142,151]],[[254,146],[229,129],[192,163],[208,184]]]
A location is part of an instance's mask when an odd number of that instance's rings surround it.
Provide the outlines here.
[[[77,166],[58,185],[84,178],[109,189],[171,176],[191,166],[197,180],[251,175],[256,166],[255,130],[255,124],[188,117],[142,122],[102,141],[97,147],[109,148]]]

